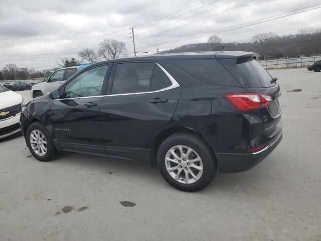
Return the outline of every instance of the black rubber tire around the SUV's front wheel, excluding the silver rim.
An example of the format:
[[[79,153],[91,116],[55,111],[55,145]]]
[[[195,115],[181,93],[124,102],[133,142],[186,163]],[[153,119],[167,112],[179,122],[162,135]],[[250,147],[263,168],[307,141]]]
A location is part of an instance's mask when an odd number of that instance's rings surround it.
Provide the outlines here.
[[[31,143],[30,143],[30,134],[32,133],[32,131],[34,130],[39,130],[44,136],[45,136],[45,139],[47,141],[47,152],[44,156],[39,156],[34,150],[33,148],[31,147]],[[27,134],[26,134],[26,140],[27,140],[27,145],[28,145],[28,148],[29,148],[29,151],[31,152],[31,154],[37,158],[39,161],[42,161],[42,162],[48,162],[50,160],[52,160],[57,151],[56,151],[56,148],[50,138],[50,135],[49,133],[47,132],[46,128],[43,127],[43,125],[39,122],[35,122],[33,124],[31,124],[27,130]]]

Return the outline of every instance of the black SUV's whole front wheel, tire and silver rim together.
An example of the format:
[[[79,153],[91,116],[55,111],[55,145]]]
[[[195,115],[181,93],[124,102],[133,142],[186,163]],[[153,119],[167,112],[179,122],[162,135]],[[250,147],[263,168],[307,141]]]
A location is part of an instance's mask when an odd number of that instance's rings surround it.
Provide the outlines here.
[[[39,123],[33,123],[27,130],[27,145],[32,155],[39,161],[50,161],[56,154],[56,148],[47,132]]]

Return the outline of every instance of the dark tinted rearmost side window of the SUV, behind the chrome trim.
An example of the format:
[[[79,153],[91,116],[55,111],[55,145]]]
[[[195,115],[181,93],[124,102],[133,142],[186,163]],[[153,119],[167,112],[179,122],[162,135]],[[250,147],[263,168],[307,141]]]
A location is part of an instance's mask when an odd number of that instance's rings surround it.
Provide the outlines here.
[[[207,84],[240,86],[216,59],[178,59],[171,62]]]

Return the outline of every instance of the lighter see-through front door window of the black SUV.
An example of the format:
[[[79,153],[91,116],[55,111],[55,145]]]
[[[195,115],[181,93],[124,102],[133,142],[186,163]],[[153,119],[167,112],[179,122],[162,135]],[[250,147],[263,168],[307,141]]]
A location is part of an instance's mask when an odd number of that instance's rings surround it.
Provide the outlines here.
[[[78,75],[66,85],[65,97],[75,98],[100,95],[107,69],[108,65],[103,65]]]

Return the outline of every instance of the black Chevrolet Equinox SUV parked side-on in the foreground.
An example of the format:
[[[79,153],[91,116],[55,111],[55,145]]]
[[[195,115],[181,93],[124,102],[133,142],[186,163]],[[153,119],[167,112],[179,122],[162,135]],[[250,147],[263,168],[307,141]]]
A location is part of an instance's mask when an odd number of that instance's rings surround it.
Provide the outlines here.
[[[156,163],[185,191],[263,160],[282,138],[281,94],[248,52],[115,59],[77,72],[21,115],[31,153]]]

